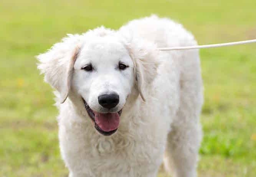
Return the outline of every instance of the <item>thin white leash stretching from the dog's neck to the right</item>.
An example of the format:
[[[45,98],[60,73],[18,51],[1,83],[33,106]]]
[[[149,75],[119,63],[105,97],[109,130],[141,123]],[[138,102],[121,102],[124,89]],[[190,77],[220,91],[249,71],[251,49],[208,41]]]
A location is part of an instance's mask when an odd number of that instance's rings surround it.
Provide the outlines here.
[[[157,48],[160,51],[175,51],[175,50],[186,50],[186,49],[201,49],[201,48],[215,48],[221,46],[232,46],[237,44],[247,44],[247,43],[256,43],[256,39],[247,40],[247,41],[237,41],[233,43],[221,43],[221,44],[208,44],[201,46],[185,46],[185,47],[172,47],[172,48]]]

